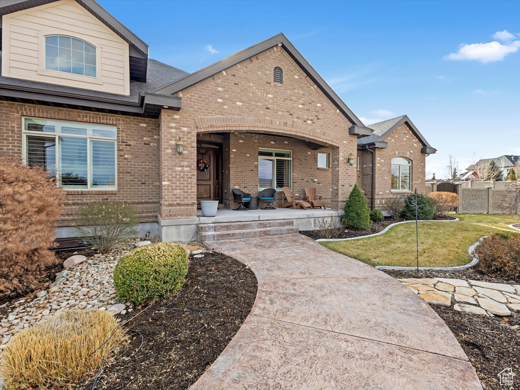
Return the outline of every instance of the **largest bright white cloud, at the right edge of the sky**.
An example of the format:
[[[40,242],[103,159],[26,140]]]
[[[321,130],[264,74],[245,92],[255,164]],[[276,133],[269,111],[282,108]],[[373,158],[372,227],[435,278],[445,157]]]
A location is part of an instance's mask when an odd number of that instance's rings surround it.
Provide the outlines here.
[[[482,63],[501,61],[510,53],[515,53],[520,48],[520,41],[514,41],[508,45],[502,45],[497,41],[488,43],[473,43],[463,45],[457,53],[444,56],[445,60],[474,60]]]

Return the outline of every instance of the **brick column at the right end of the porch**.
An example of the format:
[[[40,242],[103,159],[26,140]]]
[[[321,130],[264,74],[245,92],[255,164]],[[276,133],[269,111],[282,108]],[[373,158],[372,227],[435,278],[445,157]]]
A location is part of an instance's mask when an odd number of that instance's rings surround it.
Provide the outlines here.
[[[350,150],[347,145],[334,147],[331,153],[332,168],[332,209],[343,210],[345,200],[350,194],[350,190],[356,183],[356,165],[348,164],[349,153],[354,154],[356,158],[356,150]]]

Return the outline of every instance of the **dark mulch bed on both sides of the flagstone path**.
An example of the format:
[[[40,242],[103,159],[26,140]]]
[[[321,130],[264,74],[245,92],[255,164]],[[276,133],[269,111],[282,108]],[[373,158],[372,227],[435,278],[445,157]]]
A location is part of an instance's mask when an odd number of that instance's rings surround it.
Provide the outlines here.
[[[386,274],[395,278],[415,278],[415,271],[390,271]],[[420,278],[456,278],[480,280],[491,283],[520,284],[518,280],[504,280],[484,275],[478,269],[461,271],[420,271]],[[497,374],[505,368],[520,372],[520,313],[509,317],[484,317],[462,313],[452,307],[430,305],[444,320],[470,359],[477,375],[486,389],[503,390]],[[515,378],[515,383],[517,383]]]

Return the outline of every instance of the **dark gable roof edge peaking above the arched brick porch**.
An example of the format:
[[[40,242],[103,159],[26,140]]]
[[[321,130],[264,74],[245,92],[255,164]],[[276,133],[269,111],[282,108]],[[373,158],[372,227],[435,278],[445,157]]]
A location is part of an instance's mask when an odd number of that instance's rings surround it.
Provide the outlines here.
[[[157,90],[156,93],[163,93],[164,95],[173,95],[180,90],[197,84],[202,80],[209,78],[225,69],[236,65],[248,58],[254,57],[259,53],[270,49],[278,44],[281,44],[283,49],[289,53],[291,58],[304,70],[311,80],[320,88],[320,90],[332,101],[332,103],[345,115],[349,122],[353,125],[364,126],[359,118],[348,108],[348,106],[341,100],[336,92],[327,84],[327,82],[316,72],[312,65],[302,56],[302,54],[293,46],[293,44],[282,33],[272,36],[265,41],[250,46],[241,50],[223,60],[215,62],[205,68],[193,72],[183,78],[176,80],[173,83],[167,84]]]

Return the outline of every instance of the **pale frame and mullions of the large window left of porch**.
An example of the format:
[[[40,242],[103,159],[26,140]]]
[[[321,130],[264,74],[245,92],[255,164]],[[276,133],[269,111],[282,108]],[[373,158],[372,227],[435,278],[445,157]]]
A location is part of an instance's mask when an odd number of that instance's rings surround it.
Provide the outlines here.
[[[46,132],[46,131],[30,131],[25,130],[25,120],[26,119],[36,119],[36,120],[53,120],[55,122],[60,123],[77,123],[83,126],[101,126],[101,127],[114,127],[115,128],[115,138],[112,137],[93,137],[93,136],[82,136],[76,134],[67,134],[67,133],[56,133],[56,132]],[[102,125],[98,123],[89,123],[89,122],[75,122],[72,120],[60,120],[60,119],[50,119],[50,118],[38,118],[38,117],[30,117],[30,116],[22,116],[22,161],[23,164],[27,165],[28,156],[27,156],[27,136],[40,136],[40,137],[55,137],[56,138],[56,186],[65,190],[65,191],[117,191],[118,190],[118,128],[116,126],[111,125]],[[76,137],[76,138],[86,138],[87,139],[87,187],[86,188],[74,188],[68,186],[60,186],[60,164],[59,164],[59,142],[58,137]],[[114,142],[114,164],[115,164],[115,182],[113,186],[92,186],[90,183],[92,182],[92,151],[90,146],[90,140],[94,141],[112,141]]]

